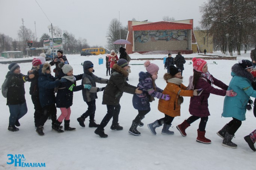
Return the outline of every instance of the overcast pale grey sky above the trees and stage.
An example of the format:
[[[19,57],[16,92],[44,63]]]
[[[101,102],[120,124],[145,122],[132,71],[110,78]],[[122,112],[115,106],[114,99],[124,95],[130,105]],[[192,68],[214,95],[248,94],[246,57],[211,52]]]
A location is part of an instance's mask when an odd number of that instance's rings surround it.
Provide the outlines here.
[[[176,20],[193,19],[195,27],[199,26],[199,6],[204,2],[207,0],[0,0],[0,33],[18,40],[23,18],[26,28],[34,33],[36,30],[37,40],[43,33],[50,35],[47,26],[52,23],[76,39],[86,38],[91,46],[105,47],[107,28],[113,18],[119,19],[119,12],[123,26],[132,18],[159,22],[163,16],[169,16]]]

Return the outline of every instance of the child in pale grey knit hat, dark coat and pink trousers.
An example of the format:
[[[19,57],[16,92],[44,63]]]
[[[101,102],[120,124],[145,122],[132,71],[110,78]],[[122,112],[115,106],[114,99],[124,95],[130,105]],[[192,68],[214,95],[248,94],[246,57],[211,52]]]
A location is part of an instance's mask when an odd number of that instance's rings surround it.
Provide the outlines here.
[[[66,79],[67,81],[60,83],[56,95],[56,107],[61,110],[61,115],[57,119],[57,124],[60,125],[64,120],[64,130],[73,131],[76,130],[76,128],[69,126],[71,114],[70,107],[73,104],[73,92],[85,88],[84,85],[76,86],[76,81],[81,80],[83,74],[74,76],[73,67],[69,64],[60,63],[59,67],[65,75],[61,79]]]

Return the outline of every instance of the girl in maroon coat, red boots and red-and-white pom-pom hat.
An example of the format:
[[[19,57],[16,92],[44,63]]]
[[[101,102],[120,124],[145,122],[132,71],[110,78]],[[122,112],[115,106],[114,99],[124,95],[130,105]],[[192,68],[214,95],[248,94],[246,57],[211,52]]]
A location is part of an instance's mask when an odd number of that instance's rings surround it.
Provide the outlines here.
[[[235,92],[232,92],[231,89],[228,89],[228,86],[218,79],[214,78],[208,72],[208,66],[205,60],[199,58],[193,58],[193,85],[195,89],[202,89],[201,95],[194,96],[190,98],[189,104],[189,113],[192,115],[187,120],[185,120],[182,124],[176,126],[180,131],[182,136],[187,136],[185,129],[191,125],[191,123],[195,122],[198,119],[201,119],[199,123],[199,128],[197,129],[197,142],[202,142],[204,144],[210,144],[211,140],[205,138],[205,127],[208,120],[208,116],[210,116],[210,112],[208,109],[208,98],[210,94],[216,94],[225,96],[227,95],[229,98],[236,95]],[[218,86],[222,89],[217,89],[212,86],[212,84]]]

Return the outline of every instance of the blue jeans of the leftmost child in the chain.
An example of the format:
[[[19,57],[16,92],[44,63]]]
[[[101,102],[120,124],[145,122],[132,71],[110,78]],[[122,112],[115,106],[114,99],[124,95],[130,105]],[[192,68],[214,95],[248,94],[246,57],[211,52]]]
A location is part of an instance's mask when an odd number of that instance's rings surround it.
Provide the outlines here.
[[[15,125],[16,120],[21,119],[27,112],[27,103],[8,105],[10,111],[9,125]]]

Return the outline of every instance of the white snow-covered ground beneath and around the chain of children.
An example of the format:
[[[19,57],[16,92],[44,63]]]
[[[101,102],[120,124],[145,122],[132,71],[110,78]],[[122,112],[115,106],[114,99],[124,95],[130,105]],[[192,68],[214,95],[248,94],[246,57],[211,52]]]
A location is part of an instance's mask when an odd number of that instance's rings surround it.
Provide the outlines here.
[[[248,53],[249,52],[249,53]],[[239,59],[249,59],[250,51],[238,57]],[[214,54],[221,54],[220,52]],[[234,54],[236,55],[236,54]],[[138,58],[163,58],[166,55],[140,55],[131,54],[132,59]],[[199,57],[198,54],[187,54],[185,57]],[[99,65],[98,59],[102,57],[104,63]],[[174,56],[175,57],[175,56]],[[32,59],[32,58],[31,58]],[[80,56],[67,55],[67,59],[74,68],[74,75],[82,73],[82,65],[85,60],[91,60],[94,63],[94,74],[102,77],[106,76],[105,55],[100,56]],[[237,60],[207,60],[208,70],[217,79],[229,84],[231,79],[230,72],[233,64]],[[164,70],[163,60],[151,60],[152,63],[160,67],[156,85],[164,89],[166,86],[163,80]],[[192,62],[187,60],[185,70],[183,71],[183,84],[188,85],[188,78],[193,74]],[[216,62],[217,64],[214,64]],[[132,60],[130,64],[143,64],[143,60]],[[20,63],[21,72],[26,74],[31,68],[31,63]],[[8,71],[8,64],[0,64],[0,83]],[[131,65],[129,75],[129,84],[136,86],[138,84],[138,73],[146,71],[143,65]],[[80,84],[80,81],[77,82]],[[28,169],[24,167],[15,167],[11,162],[11,156],[8,154],[23,154],[24,163],[45,163],[47,170],[241,170],[255,169],[255,152],[253,152],[243,137],[248,135],[255,127],[255,117],[252,111],[247,111],[247,120],[243,121],[242,126],[235,134],[232,140],[238,147],[231,149],[223,147],[222,139],[216,135],[231,119],[221,117],[224,97],[210,95],[209,110],[211,116],[208,119],[206,127],[206,137],[211,139],[211,144],[202,144],[196,142],[196,136],[199,120],[194,122],[187,130],[187,136],[180,135],[176,126],[187,119],[190,114],[189,97],[184,98],[181,108],[181,116],[173,120],[174,135],[162,135],[162,127],[156,129],[157,135],[153,136],[147,128],[148,123],[160,119],[164,114],[157,109],[158,99],[151,103],[151,111],[143,119],[144,126],[138,127],[141,136],[129,135],[128,130],[132,120],[137,115],[137,110],[132,107],[132,95],[125,94],[121,98],[121,112],[119,114],[119,123],[124,130],[113,131],[110,129],[111,121],[105,128],[108,138],[102,139],[94,134],[95,128],[89,128],[88,119],[85,120],[86,127],[79,126],[76,118],[87,109],[83,101],[82,92],[74,93],[73,106],[71,107],[71,127],[76,127],[74,132],[56,133],[51,130],[51,120],[45,124],[45,136],[39,136],[34,128],[34,110],[31,97],[29,95],[30,83],[25,83],[28,113],[20,119],[21,126],[18,132],[7,130],[9,122],[9,108],[6,106],[6,98],[0,97],[0,107],[2,109],[0,124],[0,169],[16,170]],[[97,84],[103,87],[103,84]],[[106,105],[102,105],[102,94],[98,92],[97,110],[95,120],[100,123],[106,114]],[[252,98],[254,100],[254,98]],[[60,115],[60,109],[57,109],[57,116]]]

